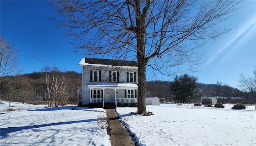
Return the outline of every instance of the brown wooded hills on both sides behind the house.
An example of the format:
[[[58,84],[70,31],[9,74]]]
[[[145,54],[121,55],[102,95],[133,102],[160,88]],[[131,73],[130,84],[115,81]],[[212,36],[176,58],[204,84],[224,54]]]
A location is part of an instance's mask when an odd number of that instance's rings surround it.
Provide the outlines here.
[[[74,91],[73,95],[68,101],[77,101],[76,89],[82,86],[82,73],[67,71],[51,71],[51,72],[33,72],[30,74],[23,74],[19,76],[8,76],[4,78],[15,78],[15,80],[8,86],[7,82],[1,83],[1,99],[12,98],[12,101],[47,101],[48,92],[46,86],[46,73],[49,74],[51,79],[53,75],[58,75],[59,78],[66,78],[66,82],[70,85],[70,88]],[[8,80],[6,80],[8,81]],[[146,82],[147,97],[157,96],[162,102],[174,101],[173,95],[170,94],[170,81],[148,81]],[[202,93],[202,97],[242,97],[242,99],[218,99],[224,103],[253,103],[250,94],[245,91],[240,91],[236,88],[232,88],[226,85],[217,84],[203,84],[199,83],[199,90]],[[16,92],[14,92],[16,91]],[[199,102],[200,99],[191,99],[189,102]]]

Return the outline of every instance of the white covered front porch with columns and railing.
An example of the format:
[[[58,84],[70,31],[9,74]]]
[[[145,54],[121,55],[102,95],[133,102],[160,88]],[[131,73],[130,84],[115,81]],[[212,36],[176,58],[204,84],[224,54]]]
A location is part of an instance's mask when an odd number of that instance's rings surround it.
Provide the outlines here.
[[[135,83],[90,82],[91,103],[137,103],[138,85]]]

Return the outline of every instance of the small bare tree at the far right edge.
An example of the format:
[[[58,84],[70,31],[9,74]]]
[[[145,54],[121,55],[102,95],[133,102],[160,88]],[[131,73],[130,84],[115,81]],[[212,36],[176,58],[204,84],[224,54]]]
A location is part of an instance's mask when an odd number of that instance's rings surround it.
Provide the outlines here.
[[[248,78],[245,78],[244,74],[241,74],[239,82],[242,88],[244,88],[245,90],[251,93],[252,98],[256,102],[256,67],[253,73],[254,73],[254,76],[253,77],[249,76]]]

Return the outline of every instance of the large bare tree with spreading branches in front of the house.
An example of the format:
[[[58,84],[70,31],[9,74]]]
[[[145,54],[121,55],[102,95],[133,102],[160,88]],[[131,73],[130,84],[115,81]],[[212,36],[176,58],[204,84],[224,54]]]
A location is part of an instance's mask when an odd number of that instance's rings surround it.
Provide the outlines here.
[[[239,1],[52,1],[53,18],[68,29],[75,52],[138,61],[138,113],[146,113],[146,66],[163,75],[194,70],[208,39]],[[182,70],[183,67],[187,67]]]

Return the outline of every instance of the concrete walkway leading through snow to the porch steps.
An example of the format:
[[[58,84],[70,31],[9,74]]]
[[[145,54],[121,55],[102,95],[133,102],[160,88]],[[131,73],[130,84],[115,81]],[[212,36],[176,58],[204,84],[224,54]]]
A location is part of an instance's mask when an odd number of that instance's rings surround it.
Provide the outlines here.
[[[134,146],[134,141],[132,141],[131,136],[120,123],[115,109],[106,109],[106,111],[108,112],[112,146]]]

